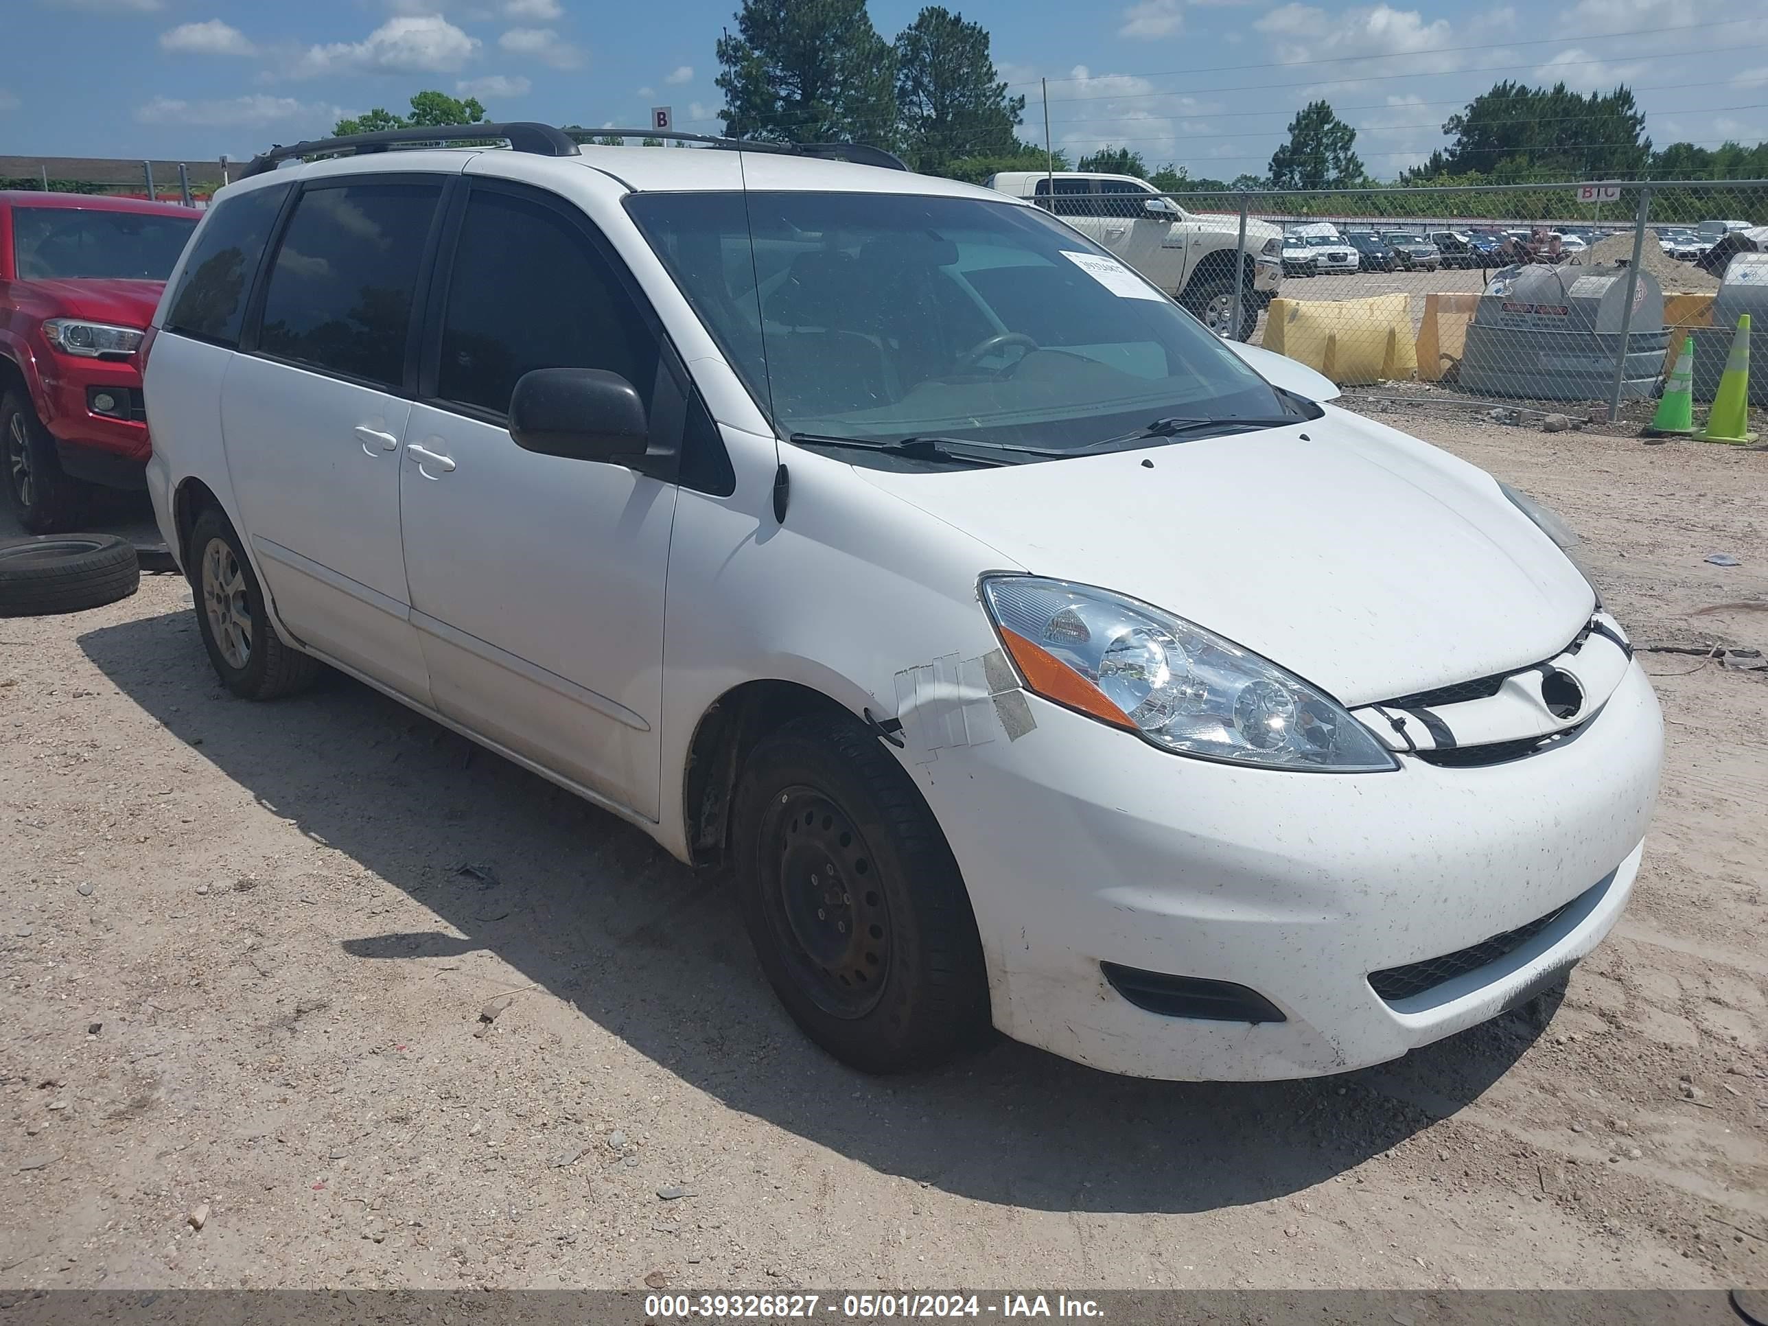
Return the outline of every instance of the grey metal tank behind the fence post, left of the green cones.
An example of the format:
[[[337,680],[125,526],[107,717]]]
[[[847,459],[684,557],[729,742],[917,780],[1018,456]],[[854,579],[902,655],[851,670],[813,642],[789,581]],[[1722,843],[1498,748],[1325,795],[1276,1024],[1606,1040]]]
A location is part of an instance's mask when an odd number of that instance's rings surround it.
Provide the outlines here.
[[[1480,297],[1460,361],[1460,385],[1490,396],[1600,401],[1614,387],[1627,267],[1506,267]],[[1639,272],[1627,338],[1623,400],[1648,400],[1664,371],[1664,290]]]

